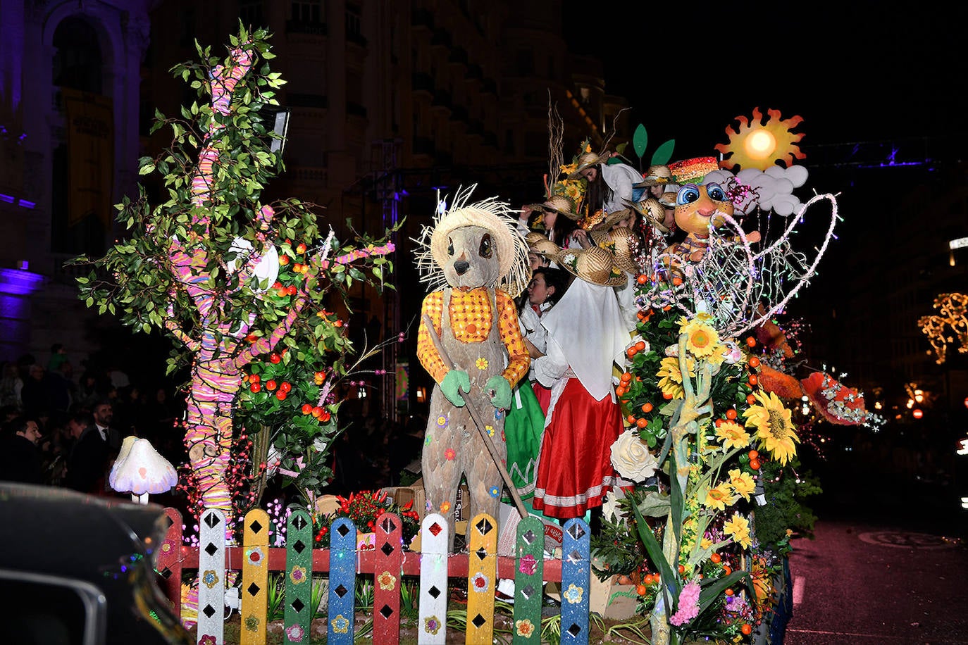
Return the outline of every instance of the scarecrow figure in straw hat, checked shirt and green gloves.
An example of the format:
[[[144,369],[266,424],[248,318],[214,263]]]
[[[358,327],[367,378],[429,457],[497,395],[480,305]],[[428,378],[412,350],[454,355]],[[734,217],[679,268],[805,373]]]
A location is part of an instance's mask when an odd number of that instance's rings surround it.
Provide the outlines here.
[[[438,287],[424,298],[417,336],[420,364],[437,382],[423,478],[428,510],[447,518],[451,546],[462,475],[469,516],[489,513],[497,521],[501,489],[510,482],[504,414],[530,364],[513,300],[528,283],[528,246],[507,204],[468,204],[471,191],[458,192],[450,210],[440,204],[418,241],[418,269]]]

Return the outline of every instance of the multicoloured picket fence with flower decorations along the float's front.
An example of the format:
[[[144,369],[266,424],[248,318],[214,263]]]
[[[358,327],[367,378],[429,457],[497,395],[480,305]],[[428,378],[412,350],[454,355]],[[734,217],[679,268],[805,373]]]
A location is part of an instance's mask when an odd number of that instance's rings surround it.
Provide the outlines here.
[[[590,534],[581,519],[564,525],[561,558],[546,560],[544,525],[536,517],[517,527],[515,555],[498,555],[498,523],[481,513],[470,520],[469,552],[449,554],[447,522],[437,513],[421,524],[421,552],[405,550],[402,522],[393,513],[380,515],[376,548],[358,550],[356,527],[347,518],[330,528],[330,548],[314,549],[313,522],[305,511],[287,519],[285,547],[269,546],[268,513],[246,514],[241,546],[227,546],[226,519],[220,511],[202,513],[199,546],[182,545],[182,518],[166,509],[171,526],[158,550],[157,569],[166,579],[168,598],[181,611],[181,580],[185,571],[198,572],[197,642],[224,642],[224,606],[228,572],[241,571],[241,643],[266,642],[269,572],[285,572],[285,642],[306,643],[316,607],[311,591],[314,572],[328,572],[327,643],[353,642],[355,614],[372,609],[373,642],[399,643],[401,588],[405,575],[419,576],[419,643],[444,643],[448,578],[467,579],[466,642],[493,642],[495,586],[499,578],[515,581],[513,642],[540,643],[542,583],[560,582],[561,642],[589,642]],[[372,576],[373,607],[354,606],[356,579]]]

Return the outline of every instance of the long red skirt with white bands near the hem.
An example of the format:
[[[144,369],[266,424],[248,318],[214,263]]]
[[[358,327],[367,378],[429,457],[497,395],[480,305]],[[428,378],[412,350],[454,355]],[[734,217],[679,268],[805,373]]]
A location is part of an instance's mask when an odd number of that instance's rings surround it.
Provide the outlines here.
[[[596,401],[579,379],[569,378],[545,426],[534,509],[564,519],[601,506],[619,483],[611,457],[622,429],[612,396]]]

